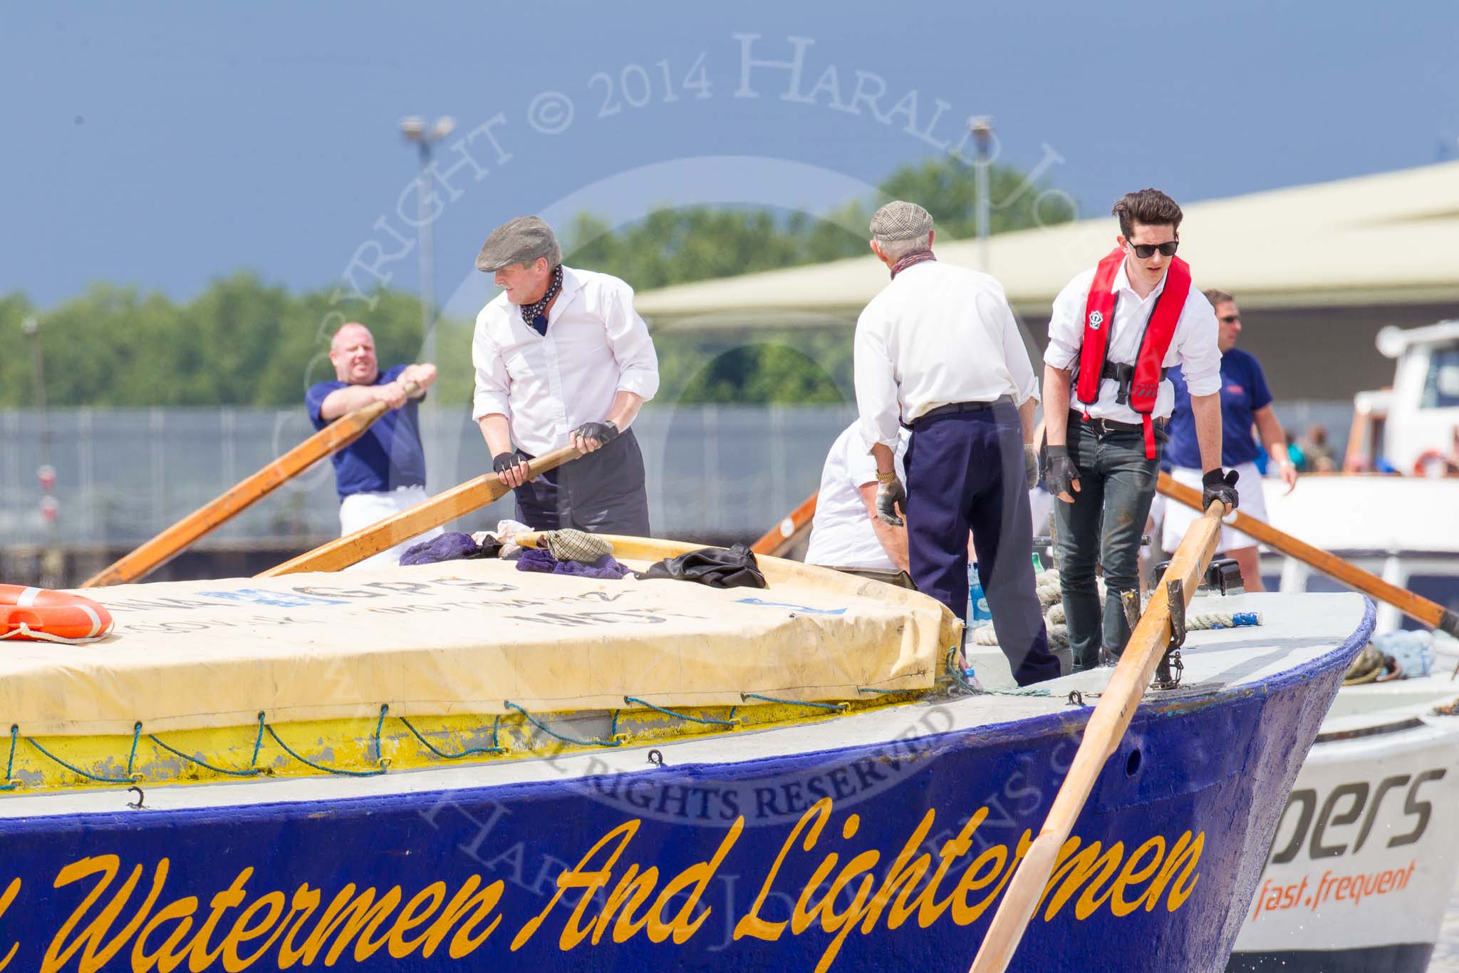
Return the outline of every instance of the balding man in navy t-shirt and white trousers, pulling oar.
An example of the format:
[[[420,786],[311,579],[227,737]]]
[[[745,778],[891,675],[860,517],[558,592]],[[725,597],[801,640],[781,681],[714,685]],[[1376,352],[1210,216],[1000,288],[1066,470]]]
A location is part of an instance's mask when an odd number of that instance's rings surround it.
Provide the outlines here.
[[[397,365],[379,371],[375,338],[363,324],[346,324],[330,340],[336,381],[309,388],[305,403],[315,429],[371,403],[390,410],[359,439],[334,454],[334,483],[340,495],[340,535],[369,527],[427,499],[426,455],[420,446],[419,401],[436,381],[436,366]],[[406,394],[406,385],[416,389]],[[432,528],[362,560],[356,567],[400,563],[404,548],[441,532]]]

